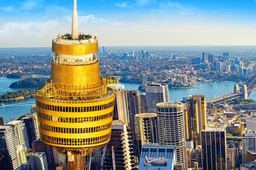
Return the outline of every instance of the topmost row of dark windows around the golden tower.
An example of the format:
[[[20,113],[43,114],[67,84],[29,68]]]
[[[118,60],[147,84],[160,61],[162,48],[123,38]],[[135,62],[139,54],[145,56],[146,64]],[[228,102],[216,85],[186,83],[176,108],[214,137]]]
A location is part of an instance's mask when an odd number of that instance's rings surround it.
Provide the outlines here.
[[[36,101],[36,105],[42,109],[52,110],[56,112],[94,112],[94,111],[111,108],[112,106],[114,106],[114,101],[107,103],[105,105],[87,106],[87,107],[65,107],[65,106],[62,107],[62,106],[47,105],[38,101]]]

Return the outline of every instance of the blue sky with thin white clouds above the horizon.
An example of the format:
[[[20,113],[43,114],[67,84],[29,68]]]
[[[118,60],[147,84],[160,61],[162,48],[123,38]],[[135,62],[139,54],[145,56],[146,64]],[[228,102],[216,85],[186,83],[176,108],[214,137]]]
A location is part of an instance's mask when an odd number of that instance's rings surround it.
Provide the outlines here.
[[[71,33],[73,0],[0,0],[0,47],[47,47]],[[256,0],[77,0],[100,46],[256,45]]]

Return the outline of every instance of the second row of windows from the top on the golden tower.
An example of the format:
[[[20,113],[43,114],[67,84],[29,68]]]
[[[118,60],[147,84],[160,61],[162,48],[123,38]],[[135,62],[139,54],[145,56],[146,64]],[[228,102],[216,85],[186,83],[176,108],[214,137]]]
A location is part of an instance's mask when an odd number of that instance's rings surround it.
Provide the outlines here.
[[[70,117],[67,118],[67,117],[50,116],[40,112],[37,112],[37,113],[39,118],[42,118],[47,121],[61,122],[61,123],[87,123],[87,122],[102,121],[102,120],[113,117],[113,111],[105,115],[84,117],[84,118],[70,118]]]

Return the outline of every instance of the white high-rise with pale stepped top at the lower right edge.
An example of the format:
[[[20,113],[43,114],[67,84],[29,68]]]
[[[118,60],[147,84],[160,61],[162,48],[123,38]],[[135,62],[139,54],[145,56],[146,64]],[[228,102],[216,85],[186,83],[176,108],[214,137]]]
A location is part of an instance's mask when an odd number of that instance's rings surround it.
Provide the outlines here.
[[[256,133],[254,130],[244,130],[242,135],[242,163],[247,162],[247,151],[256,150]]]

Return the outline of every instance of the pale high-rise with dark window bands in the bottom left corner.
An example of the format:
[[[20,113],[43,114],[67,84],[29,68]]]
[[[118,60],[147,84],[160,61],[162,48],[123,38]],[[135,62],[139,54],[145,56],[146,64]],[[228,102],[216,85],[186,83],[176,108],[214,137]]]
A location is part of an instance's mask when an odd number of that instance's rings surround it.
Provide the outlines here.
[[[16,143],[18,141],[14,140],[12,128],[0,126],[0,154],[3,155],[5,170],[15,170],[19,167]]]

